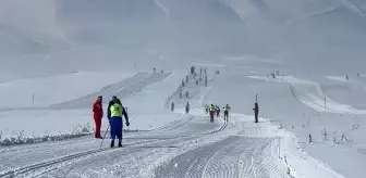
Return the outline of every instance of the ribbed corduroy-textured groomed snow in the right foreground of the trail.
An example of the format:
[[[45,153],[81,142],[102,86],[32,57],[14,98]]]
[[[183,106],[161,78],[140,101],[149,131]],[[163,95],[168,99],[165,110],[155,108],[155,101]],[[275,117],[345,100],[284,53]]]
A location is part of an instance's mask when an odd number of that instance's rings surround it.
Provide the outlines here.
[[[156,177],[285,178],[288,177],[285,168],[278,167],[277,164],[281,163],[281,160],[272,154],[273,139],[231,136],[174,157],[167,165],[156,169]],[[180,166],[175,169],[171,168],[174,164]]]

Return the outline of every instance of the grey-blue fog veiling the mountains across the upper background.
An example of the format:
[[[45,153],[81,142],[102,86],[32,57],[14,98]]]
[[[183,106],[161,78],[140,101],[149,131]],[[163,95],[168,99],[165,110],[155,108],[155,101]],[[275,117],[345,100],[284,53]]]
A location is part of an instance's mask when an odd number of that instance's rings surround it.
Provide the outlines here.
[[[364,8],[361,0],[0,0],[0,63],[30,74],[256,56],[362,72]]]

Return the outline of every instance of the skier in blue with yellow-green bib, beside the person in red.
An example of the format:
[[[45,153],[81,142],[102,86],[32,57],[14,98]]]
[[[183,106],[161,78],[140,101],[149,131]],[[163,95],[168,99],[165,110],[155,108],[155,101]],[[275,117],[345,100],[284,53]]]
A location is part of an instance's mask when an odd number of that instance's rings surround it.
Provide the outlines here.
[[[119,139],[119,148],[122,147],[122,131],[123,131],[123,122],[122,115],[125,118],[125,124],[129,127],[129,115],[126,110],[122,106],[121,100],[113,96],[112,101],[109,102],[108,105],[107,117],[109,119],[109,124],[111,127],[111,144],[110,147],[114,147],[115,137]]]

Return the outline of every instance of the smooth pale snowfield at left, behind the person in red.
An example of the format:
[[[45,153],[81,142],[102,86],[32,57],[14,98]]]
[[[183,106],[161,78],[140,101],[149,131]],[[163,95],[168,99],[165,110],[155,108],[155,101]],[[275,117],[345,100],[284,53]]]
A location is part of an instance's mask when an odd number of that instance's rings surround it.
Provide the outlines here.
[[[8,102],[2,102],[0,107],[48,106],[99,91],[131,76],[123,73],[76,72],[4,81],[0,82],[0,98]]]

